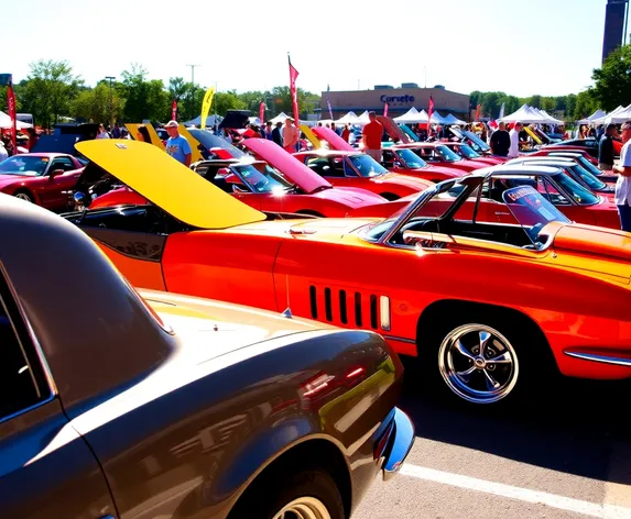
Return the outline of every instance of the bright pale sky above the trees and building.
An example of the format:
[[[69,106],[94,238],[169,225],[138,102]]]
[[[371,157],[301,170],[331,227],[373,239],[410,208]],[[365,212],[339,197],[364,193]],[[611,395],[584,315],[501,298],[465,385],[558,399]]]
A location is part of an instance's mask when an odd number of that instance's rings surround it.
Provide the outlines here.
[[[87,84],[131,63],[219,90],[401,82],[564,95],[600,66],[606,0],[0,0],[0,73],[67,59]]]

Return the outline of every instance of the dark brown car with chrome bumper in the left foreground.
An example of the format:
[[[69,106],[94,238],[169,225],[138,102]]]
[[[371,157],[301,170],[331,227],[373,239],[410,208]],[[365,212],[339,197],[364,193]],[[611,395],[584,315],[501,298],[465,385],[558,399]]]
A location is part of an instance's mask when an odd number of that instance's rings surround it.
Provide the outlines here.
[[[159,257],[166,235],[120,218],[115,246]],[[76,225],[7,195],[0,346],[2,519],[347,519],[414,441],[377,333],[139,294]]]

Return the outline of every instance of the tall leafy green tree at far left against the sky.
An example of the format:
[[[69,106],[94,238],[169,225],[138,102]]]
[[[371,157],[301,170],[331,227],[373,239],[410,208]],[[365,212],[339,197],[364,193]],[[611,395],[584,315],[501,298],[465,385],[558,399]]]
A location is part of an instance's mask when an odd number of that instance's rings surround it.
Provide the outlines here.
[[[68,62],[40,59],[30,65],[31,74],[20,84],[21,110],[33,114],[44,128],[68,115],[70,102],[78,95],[83,80],[73,75]]]

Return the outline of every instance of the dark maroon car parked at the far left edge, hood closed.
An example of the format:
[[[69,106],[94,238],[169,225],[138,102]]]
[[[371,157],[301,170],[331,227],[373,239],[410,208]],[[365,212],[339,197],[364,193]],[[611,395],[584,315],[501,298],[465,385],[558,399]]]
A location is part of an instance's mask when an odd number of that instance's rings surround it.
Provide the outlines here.
[[[68,208],[64,191],[75,187],[83,167],[65,153],[26,153],[0,163],[0,191],[53,211]]]

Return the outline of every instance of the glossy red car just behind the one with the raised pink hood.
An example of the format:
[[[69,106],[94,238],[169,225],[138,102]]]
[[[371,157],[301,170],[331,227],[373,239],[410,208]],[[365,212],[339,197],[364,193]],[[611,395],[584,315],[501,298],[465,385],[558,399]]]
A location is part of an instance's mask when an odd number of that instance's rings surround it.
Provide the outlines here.
[[[381,164],[357,150],[315,150],[295,153],[294,157],[336,187],[366,189],[389,200],[417,194],[433,185],[411,175],[389,173]]]

